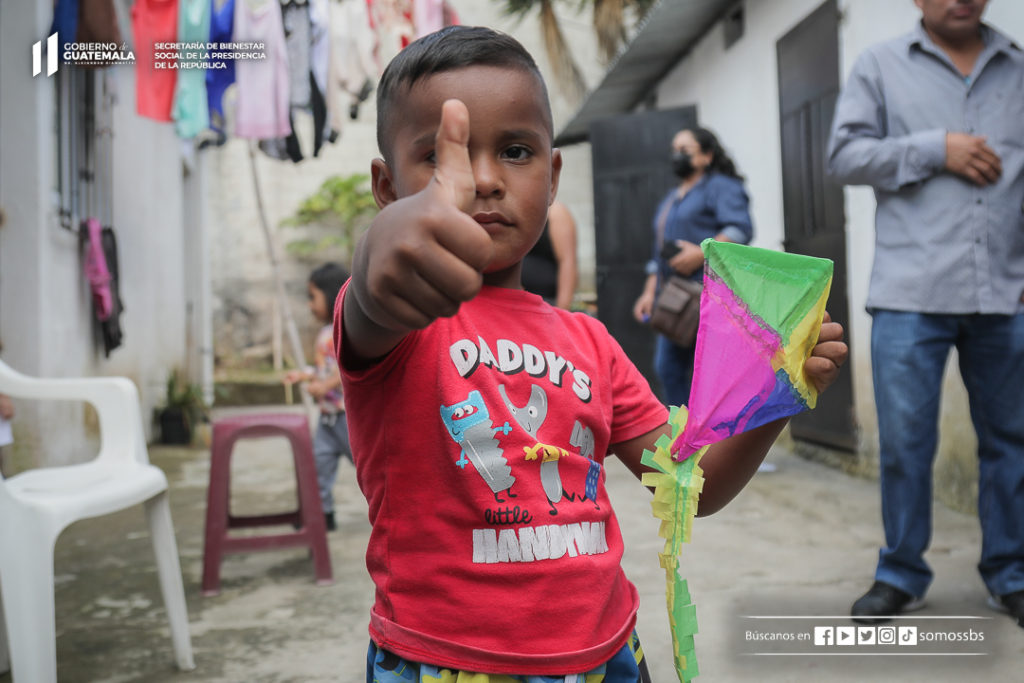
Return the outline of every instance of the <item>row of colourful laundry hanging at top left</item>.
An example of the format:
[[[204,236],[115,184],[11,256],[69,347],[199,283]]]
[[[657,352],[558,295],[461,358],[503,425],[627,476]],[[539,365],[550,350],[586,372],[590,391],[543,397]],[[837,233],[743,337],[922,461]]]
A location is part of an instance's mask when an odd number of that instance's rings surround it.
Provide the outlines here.
[[[122,45],[117,14],[115,0],[57,0],[51,32]],[[445,0],[135,0],[130,24],[139,116],[298,162],[296,111],[312,116],[316,156],[391,56],[458,17]]]

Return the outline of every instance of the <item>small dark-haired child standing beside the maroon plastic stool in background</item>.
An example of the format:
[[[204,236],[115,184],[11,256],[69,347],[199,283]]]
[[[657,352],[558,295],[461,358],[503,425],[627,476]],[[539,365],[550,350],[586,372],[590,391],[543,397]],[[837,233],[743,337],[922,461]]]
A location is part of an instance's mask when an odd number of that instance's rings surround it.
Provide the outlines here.
[[[316,483],[327,529],[338,528],[334,518],[334,488],[338,476],[338,461],[342,456],[352,461],[348,444],[348,421],[345,419],[345,398],[341,390],[341,375],[334,355],[332,321],[334,301],[348,271],[337,263],[325,263],[309,275],[309,311],[324,327],[316,335],[313,367],[293,370],[285,376],[287,384],[306,382],[306,391],[319,403],[319,425],[313,436],[313,460],[316,463]]]

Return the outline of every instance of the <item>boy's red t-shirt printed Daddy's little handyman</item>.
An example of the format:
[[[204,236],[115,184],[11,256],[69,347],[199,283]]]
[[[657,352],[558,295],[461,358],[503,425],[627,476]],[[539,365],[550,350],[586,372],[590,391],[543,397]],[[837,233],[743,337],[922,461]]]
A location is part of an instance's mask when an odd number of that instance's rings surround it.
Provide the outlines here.
[[[338,351],[341,315],[335,326]],[[638,594],[601,464],[668,411],[605,328],[484,287],[342,379],[373,524],[374,641],[481,673],[610,658]]]

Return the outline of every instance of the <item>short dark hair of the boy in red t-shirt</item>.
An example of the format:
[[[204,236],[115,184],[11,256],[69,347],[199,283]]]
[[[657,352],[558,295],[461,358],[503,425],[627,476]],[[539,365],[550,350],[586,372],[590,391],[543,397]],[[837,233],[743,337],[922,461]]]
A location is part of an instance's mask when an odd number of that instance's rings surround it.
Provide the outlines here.
[[[387,135],[400,94],[420,79],[465,67],[508,67],[537,76],[547,105],[548,129],[554,136],[551,106],[544,77],[534,57],[519,41],[485,27],[450,26],[410,43],[384,70],[377,85],[377,146],[390,161]]]

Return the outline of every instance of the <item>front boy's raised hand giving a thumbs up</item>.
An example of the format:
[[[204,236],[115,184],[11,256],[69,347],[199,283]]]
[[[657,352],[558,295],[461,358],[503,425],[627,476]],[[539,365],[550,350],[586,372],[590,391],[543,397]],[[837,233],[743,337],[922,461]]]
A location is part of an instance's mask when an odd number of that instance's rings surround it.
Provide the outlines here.
[[[365,330],[375,357],[408,332],[454,315],[483,283],[494,245],[470,215],[476,183],[469,158],[469,112],[456,99],[444,102],[435,138],[434,173],[415,195],[385,206],[356,248],[352,294],[377,334]],[[394,170],[392,170],[392,173]],[[347,306],[346,306],[347,308]],[[346,337],[358,342],[349,326]],[[357,344],[358,345],[358,344]],[[383,348],[381,348],[383,346]]]

